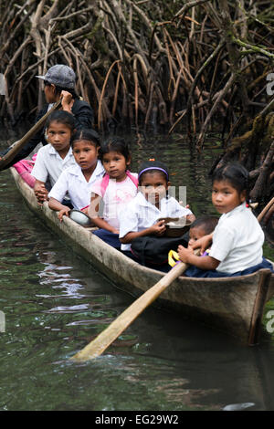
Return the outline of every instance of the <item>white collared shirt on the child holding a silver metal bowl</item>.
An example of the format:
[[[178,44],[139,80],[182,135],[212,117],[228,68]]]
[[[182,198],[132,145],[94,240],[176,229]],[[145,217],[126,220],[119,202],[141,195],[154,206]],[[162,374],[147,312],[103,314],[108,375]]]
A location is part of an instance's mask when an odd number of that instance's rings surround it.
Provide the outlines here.
[[[91,187],[104,173],[105,170],[101,162],[98,161],[89,182],[87,182],[79,164],[70,165],[70,167],[60,174],[57,183],[51,189],[48,197],[55,198],[62,203],[65,195],[68,193],[73,207],[80,210],[90,205]]]

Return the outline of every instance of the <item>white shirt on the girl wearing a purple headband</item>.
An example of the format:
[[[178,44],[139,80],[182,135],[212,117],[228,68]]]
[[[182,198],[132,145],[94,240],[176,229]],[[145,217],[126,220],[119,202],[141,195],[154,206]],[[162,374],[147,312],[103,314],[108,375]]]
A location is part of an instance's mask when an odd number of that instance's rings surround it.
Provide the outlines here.
[[[154,225],[160,217],[183,217],[193,214],[188,208],[183,207],[174,197],[162,198],[160,209],[145,199],[139,192],[135,198],[121,212],[120,238],[130,232],[137,233]],[[121,250],[131,250],[131,245],[121,245]]]

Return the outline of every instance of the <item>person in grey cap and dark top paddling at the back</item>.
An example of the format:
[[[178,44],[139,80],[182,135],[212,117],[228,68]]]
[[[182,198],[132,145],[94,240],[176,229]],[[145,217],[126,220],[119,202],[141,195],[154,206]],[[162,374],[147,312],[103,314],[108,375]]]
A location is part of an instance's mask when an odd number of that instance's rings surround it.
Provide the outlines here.
[[[48,68],[45,76],[37,76],[44,80],[44,92],[47,104],[37,114],[37,120],[42,118],[47,110],[50,110],[52,105],[58,101],[62,96],[62,110],[66,110],[73,114],[76,123],[76,129],[81,128],[92,129],[93,128],[93,110],[89,103],[79,99],[75,93],[75,80],[76,76],[72,68],[64,64],[56,64],[55,66]],[[26,158],[30,152],[32,152],[39,142],[43,145],[47,144],[45,139],[45,129],[38,131],[37,134],[26,143],[25,147],[16,154],[16,157],[12,162],[7,164],[5,168],[11,167],[14,163]],[[0,153],[4,156],[10,148],[6,149],[5,152]],[[1,159],[1,156],[0,156]]]

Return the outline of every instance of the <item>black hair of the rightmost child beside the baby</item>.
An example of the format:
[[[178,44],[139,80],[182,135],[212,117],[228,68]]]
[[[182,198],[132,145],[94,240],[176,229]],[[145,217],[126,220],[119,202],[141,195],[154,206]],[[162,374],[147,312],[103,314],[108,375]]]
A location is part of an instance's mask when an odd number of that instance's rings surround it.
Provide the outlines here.
[[[212,176],[212,183],[220,181],[231,183],[231,186],[237,190],[238,194],[246,191],[246,199],[248,200],[249,174],[243,165],[235,162],[216,169]]]

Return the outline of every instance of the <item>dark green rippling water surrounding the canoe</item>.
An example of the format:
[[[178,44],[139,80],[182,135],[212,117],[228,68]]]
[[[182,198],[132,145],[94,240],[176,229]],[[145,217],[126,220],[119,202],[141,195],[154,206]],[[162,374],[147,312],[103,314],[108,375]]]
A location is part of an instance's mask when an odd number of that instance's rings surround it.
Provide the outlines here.
[[[215,214],[205,172],[216,152],[197,155],[175,139],[139,141],[132,171],[161,153],[173,184],[187,185],[193,212]],[[8,172],[0,173],[0,208],[0,410],[178,412],[235,403],[274,409],[274,334],[245,348],[201,324],[147,309],[103,356],[69,361],[132,298],[29,213]],[[270,246],[265,253],[274,258]]]

